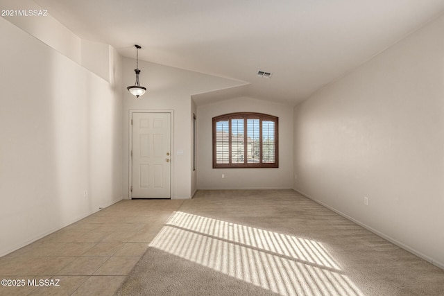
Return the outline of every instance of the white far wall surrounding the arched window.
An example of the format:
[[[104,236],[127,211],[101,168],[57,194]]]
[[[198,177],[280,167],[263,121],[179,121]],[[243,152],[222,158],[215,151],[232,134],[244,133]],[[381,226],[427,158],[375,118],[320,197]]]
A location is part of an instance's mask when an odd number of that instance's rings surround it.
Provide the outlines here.
[[[241,97],[198,105],[198,189],[290,189],[293,186],[293,109],[289,105]],[[279,117],[279,168],[213,168],[212,118],[232,112]],[[222,179],[221,175],[225,178]]]

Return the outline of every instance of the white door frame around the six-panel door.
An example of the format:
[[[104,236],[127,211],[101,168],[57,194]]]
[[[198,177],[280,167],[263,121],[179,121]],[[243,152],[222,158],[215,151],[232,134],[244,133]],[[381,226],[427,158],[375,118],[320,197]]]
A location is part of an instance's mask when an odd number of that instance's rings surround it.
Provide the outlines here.
[[[169,198],[174,196],[174,110],[129,110],[128,116],[128,196],[130,200],[133,199],[133,192],[131,192],[131,186],[133,186],[133,157],[131,156],[131,151],[133,150],[133,125],[131,121],[133,120],[133,113],[169,113],[171,120],[171,131],[170,131],[170,143],[171,143],[171,162],[170,162],[170,172],[169,172]]]

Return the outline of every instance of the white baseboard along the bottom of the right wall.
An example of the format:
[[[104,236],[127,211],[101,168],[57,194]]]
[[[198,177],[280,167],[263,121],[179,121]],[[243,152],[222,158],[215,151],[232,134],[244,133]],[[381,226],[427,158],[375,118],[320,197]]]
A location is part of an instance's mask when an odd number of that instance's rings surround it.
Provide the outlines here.
[[[295,188],[293,188],[293,190],[296,191],[297,193],[300,193],[301,195],[305,196],[306,198],[309,198],[310,200],[313,200],[314,202],[321,204],[321,206],[334,211],[336,214],[339,214],[339,215],[343,216],[344,218],[347,218],[348,220],[352,221],[353,223],[356,223],[357,225],[364,227],[368,231],[376,234],[377,236],[381,236],[386,241],[389,241],[389,242],[393,243],[394,245],[398,245],[398,247],[402,247],[402,249],[407,250],[407,251],[411,252],[412,254],[414,254],[414,255],[424,259],[425,261],[432,263],[433,265],[437,266],[438,268],[441,268],[444,270],[444,263],[436,261],[435,259],[427,256],[426,254],[423,254],[422,252],[419,252],[418,250],[413,249],[413,247],[409,247],[409,245],[405,245],[404,243],[396,240],[395,238],[392,238],[391,236],[388,236],[382,232],[379,232],[377,229],[374,229],[373,227],[370,227],[370,226],[366,225],[365,223],[362,223],[361,221],[359,221],[355,218],[352,218],[352,217],[348,216],[347,214],[344,214],[343,212],[335,209],[334,207],[330,207],[328,204],[321,202],[321,200],[317,200],[316,198],[312,198],[307,193],[304,193],[304,192],[302,192],[298,189],[295,189]]]

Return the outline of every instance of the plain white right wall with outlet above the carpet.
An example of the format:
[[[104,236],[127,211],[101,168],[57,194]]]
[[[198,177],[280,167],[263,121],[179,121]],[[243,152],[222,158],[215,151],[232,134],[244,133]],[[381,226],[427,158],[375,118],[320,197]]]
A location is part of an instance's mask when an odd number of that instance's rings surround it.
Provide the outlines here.
[[[443,31],[441,17],[294,110],[294,188],[442,268]]]

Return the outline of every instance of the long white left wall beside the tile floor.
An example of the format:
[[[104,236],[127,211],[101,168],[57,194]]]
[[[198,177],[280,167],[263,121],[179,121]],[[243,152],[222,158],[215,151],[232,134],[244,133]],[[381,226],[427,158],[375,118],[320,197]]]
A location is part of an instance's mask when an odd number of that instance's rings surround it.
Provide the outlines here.
[[[2,256],[121,200],[122,80],[115,51],[110,84],[3,18],[0,55]]]

